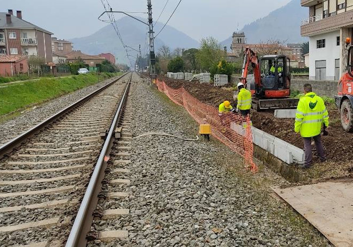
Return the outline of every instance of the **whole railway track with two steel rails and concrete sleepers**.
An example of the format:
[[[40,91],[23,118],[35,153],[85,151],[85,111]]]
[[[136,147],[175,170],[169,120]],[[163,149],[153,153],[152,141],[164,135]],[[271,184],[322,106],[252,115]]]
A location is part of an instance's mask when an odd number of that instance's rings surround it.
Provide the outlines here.
[[[0,147],[0,246],[83,246],[131,78]]]

